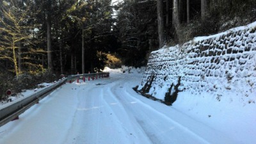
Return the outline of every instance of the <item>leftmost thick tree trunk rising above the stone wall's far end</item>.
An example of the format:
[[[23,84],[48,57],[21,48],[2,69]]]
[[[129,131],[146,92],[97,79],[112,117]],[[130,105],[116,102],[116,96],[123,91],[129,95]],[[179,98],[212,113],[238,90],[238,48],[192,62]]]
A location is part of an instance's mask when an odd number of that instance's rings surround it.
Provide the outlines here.
[[[158,37],[159,37],[159,48],[164,46],[164,17],[163,17],[163,0],[157,0],[157,23],[158,23]]]

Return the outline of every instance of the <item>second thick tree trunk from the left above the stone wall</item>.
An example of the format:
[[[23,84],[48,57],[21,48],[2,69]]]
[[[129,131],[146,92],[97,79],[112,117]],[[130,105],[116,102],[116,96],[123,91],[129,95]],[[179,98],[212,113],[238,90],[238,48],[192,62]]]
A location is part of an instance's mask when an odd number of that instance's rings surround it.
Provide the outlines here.
[[[175,31],[177,33],[177,40],[179,41],[179,29],[180,29],[180,21],[179,21],[179,4],[178,0],[173,0],[173,25]]]

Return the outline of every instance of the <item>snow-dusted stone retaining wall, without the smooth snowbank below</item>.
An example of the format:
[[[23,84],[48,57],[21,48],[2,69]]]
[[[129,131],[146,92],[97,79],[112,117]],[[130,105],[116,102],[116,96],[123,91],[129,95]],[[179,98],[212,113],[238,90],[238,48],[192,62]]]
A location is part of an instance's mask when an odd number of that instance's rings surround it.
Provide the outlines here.
[[[150,85],[146,93],[164,100],[180,77],[180,93],[186,92],[189,97],[208,93],[220,101],[228,95],[255,104],[255,31],[253,22],[152,52],[138,90]]]

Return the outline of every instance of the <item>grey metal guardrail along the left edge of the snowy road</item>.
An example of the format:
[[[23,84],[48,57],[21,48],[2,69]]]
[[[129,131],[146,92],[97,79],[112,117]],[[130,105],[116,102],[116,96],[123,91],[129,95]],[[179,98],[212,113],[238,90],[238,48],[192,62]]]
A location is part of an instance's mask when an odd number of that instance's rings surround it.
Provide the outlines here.
[[[24,113],[27,109],[31,108],[34,104],[38,103],[40,99],[43,99],[49,93],[53,92],[57,88],[59,88],[62,84],[66,83],[66,81],[72,81],[74,79],[81,79],[83,77],[109,77],[108,72],[100,72],[100,73],[92,73],[92,74],[79,74],[79,75],[72,75],[68,76],[65,79],[62,79],[56,84],[52,84],[48,88],[44,90],[40,90],[36,93],[25,97],[24,99],[15,100],[3,106],[0,109],[0,127],[8,122],[12,121],[13,119],[17,118],[20,114]]]

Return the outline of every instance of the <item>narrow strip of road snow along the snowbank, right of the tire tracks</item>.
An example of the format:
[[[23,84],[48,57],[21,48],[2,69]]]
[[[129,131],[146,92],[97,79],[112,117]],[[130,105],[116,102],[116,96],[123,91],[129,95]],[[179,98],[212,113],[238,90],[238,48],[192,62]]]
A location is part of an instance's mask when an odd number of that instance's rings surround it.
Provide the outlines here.
[[[173,122],[173,124],[179,125],[179,127],[181,129],[184,129],[185,132],[190,132],[192,135],[196,136],[199,140],[202,140],[203,143],[236,143],[236,141],[233,141],[232,138],[228,138],[227,136],[225,136],[225,134],[221,133],[220,131],[212,127],[209,127],[208,125],[205,125],[202,122],[196,121],[190,116],[185,115],[180,111],[177,111],[177,109],[175,108],[172,108],[170,106],[165,106],[163,104],[160,104],[159,102],[154,102],[153,100],[141,97],[141,95],[138,95],[138,93],[134,92],[134,90],[131,89],[131,84],[129,86],[129,82],[124,83],[124,86],[122,87],[124,87],[124,94],[127,95],[127,97],[122,97],[122,98],[124,98],[126,101],[128,102],[134,101],[136,103],[139,102],[145,105],[146,107],[152,109],[152,111],[155,111],[156,113],[163,116],[167,120],[170,120],[171,122]],[[157,105],[161,105],[161,106],[157,106]],[[166,109],[166,110],[163,111],[163,109]],[[193,125],[189,125],[189,124],[193,124]],[[212,139],[212,136],[214,136],[214,139]]]

